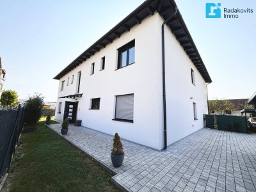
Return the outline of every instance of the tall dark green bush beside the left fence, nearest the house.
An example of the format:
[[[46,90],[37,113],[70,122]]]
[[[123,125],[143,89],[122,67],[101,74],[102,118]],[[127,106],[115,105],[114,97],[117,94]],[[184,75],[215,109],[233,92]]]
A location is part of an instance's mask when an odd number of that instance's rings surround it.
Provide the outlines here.
[[[42,109],[44,106],[44,97],[39,95],[33,95],[23,102],[26,108],[24,122],[26,124],[36,124],[42,115]]]

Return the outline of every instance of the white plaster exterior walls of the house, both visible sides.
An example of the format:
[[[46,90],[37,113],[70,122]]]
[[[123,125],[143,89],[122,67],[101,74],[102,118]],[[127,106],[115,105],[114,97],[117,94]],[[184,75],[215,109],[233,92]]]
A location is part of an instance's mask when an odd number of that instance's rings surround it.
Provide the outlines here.
[[[81,71],[80,92],[82,98],[58,99],[62,102],[61,114],[56,119],[63,120],[65,101],[78,101],[77,119],[84,127],[121,138],[162,149],[163,131],[163,81],[161,24],[159,14],[149,16],[131,31],[122,34],[112,44],[101,49],[60,79],[65,80],[65,88],[58,98],[76,93],[77,72]],[[135,63],[116,69],[117,49],[135,39]],[[105,69],[100,71],[101,58],[105,56]],[[166,56],[166,115],[168,145],[204,127],[203,114],[207,113],[207,93],[205,81],[173,36],[165,26]],[[95,63],[94,74],[91,64]],[[191,83],[191,68],[195,72],[195,85]],[[74,83],[67,86],[67,79],[74,74]],[[134,123],[118,122],[115,116],[115,95],[134,93]],[[100,97],[100,109],[89,109],[90,100]],[[192,98],[192,99],[191,99]],[[193,102],[196,103],[197,118],[194,120]]]

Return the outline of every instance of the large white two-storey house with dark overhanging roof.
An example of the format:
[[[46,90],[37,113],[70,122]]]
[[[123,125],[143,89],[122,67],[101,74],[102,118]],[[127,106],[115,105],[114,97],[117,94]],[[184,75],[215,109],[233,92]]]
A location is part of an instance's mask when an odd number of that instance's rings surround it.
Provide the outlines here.
[[[175,7],[145,1],[61,70],[56,119],[158,150],[201,129],[212,81],[179,10],[161,40]]]

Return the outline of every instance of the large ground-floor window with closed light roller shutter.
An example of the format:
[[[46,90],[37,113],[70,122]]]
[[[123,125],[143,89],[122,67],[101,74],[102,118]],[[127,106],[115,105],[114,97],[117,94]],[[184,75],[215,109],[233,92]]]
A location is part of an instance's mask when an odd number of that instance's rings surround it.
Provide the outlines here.
[[[124,122],[133,122],[134,94],[116,96],[115,119]]]

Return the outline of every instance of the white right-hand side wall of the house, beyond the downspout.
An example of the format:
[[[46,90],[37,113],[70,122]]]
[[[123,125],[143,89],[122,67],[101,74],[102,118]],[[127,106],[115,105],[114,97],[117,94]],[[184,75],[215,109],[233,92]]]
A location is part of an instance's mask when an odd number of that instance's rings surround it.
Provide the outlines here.
[[[159,28],[163,19],[159,22]],[[207,113],[205,81],[170,28],[165,26],[167,145],[204,127]],[[191,68],[195,85],[191,83]],[[194,120],[193,102],[198,120]]]

